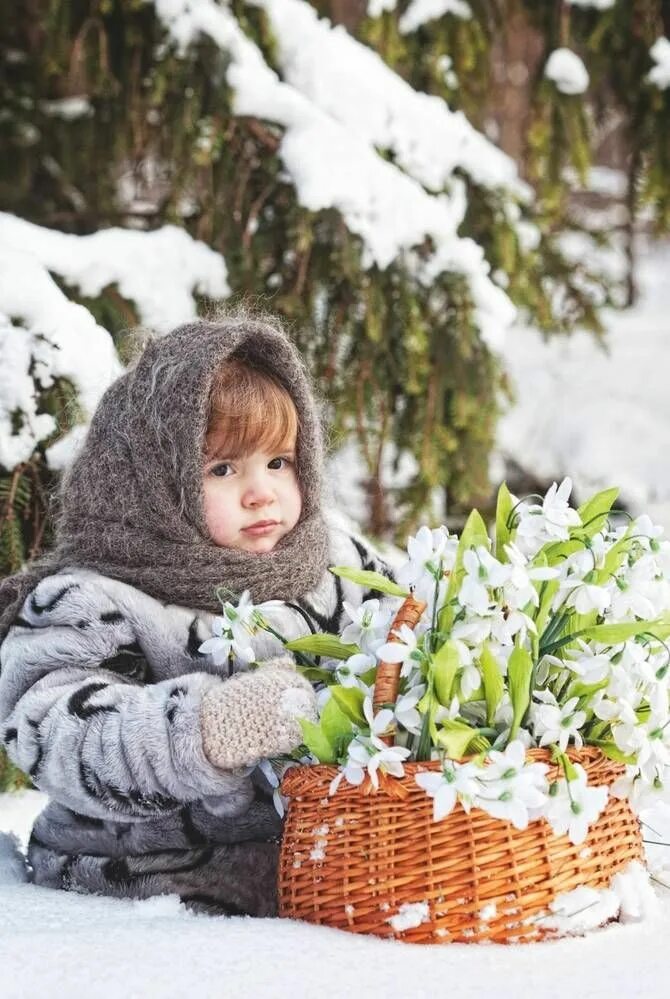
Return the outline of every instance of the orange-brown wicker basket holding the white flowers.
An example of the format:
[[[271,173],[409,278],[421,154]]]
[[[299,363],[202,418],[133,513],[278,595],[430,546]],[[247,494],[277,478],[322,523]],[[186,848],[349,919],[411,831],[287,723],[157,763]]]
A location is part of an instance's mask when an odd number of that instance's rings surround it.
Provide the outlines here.
[[[609,785],[624,769],[591,747],[568,755],[589,784]],[[529,756],[550,764],[546,750]],[[433,801],[414,777],[440,766],[405,764],[402,778],[380,775],[378,791],[369,779],[359,787],[342,781],[333,796],[336,767],[290,770],[282,782],[290,801],[280,915],[413,943],[540,940],[556,935],[547,917],[558,895],[580,885],[605,888],[630,861],[642,860],[639,821],[621,799],[608,799],[577,846],[544,819],[520,831],[480,809],[467,814],[460,803],[435,822]],[[562,774],[550,764],[547,776]]]

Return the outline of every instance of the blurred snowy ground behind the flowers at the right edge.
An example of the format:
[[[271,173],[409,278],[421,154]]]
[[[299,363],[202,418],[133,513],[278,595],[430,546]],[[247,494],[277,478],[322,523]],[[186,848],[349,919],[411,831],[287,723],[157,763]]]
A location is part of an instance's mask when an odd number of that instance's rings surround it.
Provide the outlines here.
[[[639,302],[604,313],[605,347],[588,333],[508,333],[516,401],[498,447],[540,479],[569,475],[582,497],[618,485],[633,512],[670,531],[670,244],[641,244],[638,258]]]

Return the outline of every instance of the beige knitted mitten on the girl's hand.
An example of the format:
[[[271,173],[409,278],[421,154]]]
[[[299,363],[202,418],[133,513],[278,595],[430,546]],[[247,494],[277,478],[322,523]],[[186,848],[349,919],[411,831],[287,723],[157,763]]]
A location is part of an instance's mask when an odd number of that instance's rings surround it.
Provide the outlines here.
[[[289,753],[302,742],[298,718],[317,720],[316,696],[289,658],[270,659],[207,691],[200,708],[205,755],[222,770]]]

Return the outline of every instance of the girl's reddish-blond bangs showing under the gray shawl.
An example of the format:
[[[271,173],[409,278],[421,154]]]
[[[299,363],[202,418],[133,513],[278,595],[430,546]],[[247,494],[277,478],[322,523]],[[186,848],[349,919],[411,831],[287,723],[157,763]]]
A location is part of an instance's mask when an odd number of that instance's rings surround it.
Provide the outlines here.
[[[221,368],[210,396],[208,458],[293,450],[297,436],[298,414],[283,385],[236,358]]]

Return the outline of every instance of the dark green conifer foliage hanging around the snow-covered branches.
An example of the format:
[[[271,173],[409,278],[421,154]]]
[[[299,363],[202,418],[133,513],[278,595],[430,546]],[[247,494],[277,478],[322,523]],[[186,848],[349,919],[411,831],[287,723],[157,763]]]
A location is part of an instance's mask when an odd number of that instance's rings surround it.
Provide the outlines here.
[[[314,6],[333,15],[326,0]],[[588,255],[567,260],[561,251],[561,234],[580,228],[564,171],[584,174],[613,95],[628,127],[631,211],[646,201],[659,228],[667,227],[668,98],[644,83],[649,46],[663,33],[660,0],[617,3],[606,12],[471,0],[471,18],[447,14],[401,34],[406,7],[378,18],[361,14],[350,30],[413,87],[446,99],[480,129],[497,89],[496,46],[519,26],[535,32],[520,168],[536,187],[536,205],[463,176],[467,211],[459,233],[483,248],[496,280],[534,325],[547,333],[576,326],[599,333],[599,308],[614,301],[613,289],[591,273]],[[242,0],[231,9],[278,69],[263,11]],[[544,78],[557,45],[585,58],[588,106]],[[452,509],[489,494],[488,455],[508,390],[477,327],[467,282],[446,274],[424,288],[400,261],[364,270],[360,240],[338,213],[298,203],[278,156],[281,129],[233,114],[225,52],[205,39],[178,51],[142,0],[37,0],[4,19],[0,51],[8,55],[0,75],[7,151],[1,209],[76,233],[173,223],[220,251],[236,294],[292,324],[330,404],[333,441],[353,435],[360,444],[371,483],[367,526],[375,534],[393,530],[404,538],[436,489]],[[54,102],[67,97],[85,99],[85,113],[71,120],[59,114]],[[394,159],[392,150],[379,152]],[[522,245],[519,222],[535,227],[530,245]],[[126,360],[132,345],[124,331],[137,320],[132,304],[115,288],[79,300]],[[412,455],[416,471],[406,486],[385,492],[377,483],[389,445],[397,462]],[[20,534],[15,521],[4,523],[0,570],[15,566],[26,544],[32,548],[30,531],[23,547]]]

